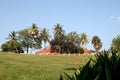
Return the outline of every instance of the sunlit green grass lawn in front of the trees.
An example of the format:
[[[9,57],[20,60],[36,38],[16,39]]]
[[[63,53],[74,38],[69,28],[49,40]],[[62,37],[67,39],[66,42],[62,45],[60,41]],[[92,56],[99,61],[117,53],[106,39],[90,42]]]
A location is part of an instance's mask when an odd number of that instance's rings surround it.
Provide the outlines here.
[[[45,56],[0,53],[0,80],[59,80],[72,75],[90,56]]]

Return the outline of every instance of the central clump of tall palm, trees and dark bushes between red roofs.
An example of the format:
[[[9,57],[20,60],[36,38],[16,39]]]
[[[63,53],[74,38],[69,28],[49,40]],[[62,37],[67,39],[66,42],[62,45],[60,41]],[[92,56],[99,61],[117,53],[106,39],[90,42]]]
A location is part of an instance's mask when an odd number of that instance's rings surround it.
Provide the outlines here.
[[[52,51],[56,50],[59,53],[84,53],[84,50],[80,49],[81,41],[83,41],[83,44],[88,42],[85,33],[70,32],[65,35],[61,25],[57,24],[54,28],[54,39],[51,40],[50,44]]]

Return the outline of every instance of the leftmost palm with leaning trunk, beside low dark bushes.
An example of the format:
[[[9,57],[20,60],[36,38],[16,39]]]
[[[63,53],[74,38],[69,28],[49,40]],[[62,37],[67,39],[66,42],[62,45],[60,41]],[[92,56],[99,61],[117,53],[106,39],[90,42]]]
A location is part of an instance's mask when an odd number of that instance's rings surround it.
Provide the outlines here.
[[[17,34],[16,34],[16,32],[15,31],[10,32],[9,36],[7,37],[7,39],[9,39],[10,42],[12,42],[16,52],[19,53],[19,51],[17,49],[17,46],[16,46],[17,45]]]

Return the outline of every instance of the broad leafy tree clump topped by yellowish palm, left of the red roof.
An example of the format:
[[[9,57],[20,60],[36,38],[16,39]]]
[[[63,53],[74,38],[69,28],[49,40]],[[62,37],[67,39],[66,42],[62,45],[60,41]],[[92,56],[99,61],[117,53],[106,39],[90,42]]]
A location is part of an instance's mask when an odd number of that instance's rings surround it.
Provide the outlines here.
[[[40,34],[40,30],[36,26],[35,23],[32,24],[31,27],[18,31],[18,41],[24,51],[29,52],[29,49],[40,49],[42,38]]]

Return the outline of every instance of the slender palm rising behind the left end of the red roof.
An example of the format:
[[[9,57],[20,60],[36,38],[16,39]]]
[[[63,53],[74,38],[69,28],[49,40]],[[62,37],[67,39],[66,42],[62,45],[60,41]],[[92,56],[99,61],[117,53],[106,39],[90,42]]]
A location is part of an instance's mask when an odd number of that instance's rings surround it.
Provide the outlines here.
[[[46,29],[46,28],[43,28],[42,31],[41,31],[41,37],[42,37],[42,40],[44,41],[44,48],[46,47],[46,42],[50,42],[50,35],[49,35],[49,30]]]

